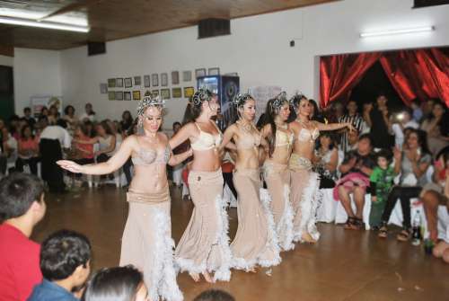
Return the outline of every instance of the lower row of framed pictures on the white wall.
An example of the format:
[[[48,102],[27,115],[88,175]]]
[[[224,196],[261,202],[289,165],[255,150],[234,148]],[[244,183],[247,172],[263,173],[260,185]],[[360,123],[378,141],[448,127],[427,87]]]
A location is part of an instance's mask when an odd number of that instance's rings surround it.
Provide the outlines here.
[[[184,98],[189,98],[195,93],[193,87],[184,87]],[[166,99],[171,98],[182,98],[182,89],[181,88],[172,88],[172,95],[170,89],[161,89],[161,90],[147,90],[145,95],[161,95],[161,97]],[[110,91],[108,92],[108,100],[110,101],[140,101],[141,100],[140,90],[135,91]]]

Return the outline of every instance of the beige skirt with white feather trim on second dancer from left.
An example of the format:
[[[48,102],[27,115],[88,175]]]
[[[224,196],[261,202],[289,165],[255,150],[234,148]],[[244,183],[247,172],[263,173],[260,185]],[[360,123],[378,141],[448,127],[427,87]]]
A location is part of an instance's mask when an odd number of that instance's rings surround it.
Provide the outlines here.
[[[229,281],[232,256],[223,184],[221,169],[190,171],[189,191],[195,208],[176,247],[175,261],[181,271],[207,270],[215,272],[215,280]]]

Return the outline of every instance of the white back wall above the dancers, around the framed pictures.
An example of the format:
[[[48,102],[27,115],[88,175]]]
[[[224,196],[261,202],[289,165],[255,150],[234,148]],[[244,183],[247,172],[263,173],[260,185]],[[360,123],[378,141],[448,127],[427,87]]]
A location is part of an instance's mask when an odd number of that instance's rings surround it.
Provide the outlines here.
[[[242,90],[275,84],[317,99],[320,55],[449,45],[449,5],[411,6],[412,0],[345,0],[233,20],[232,35],[225,37],[197,40],[197,27],[189,27],[111,41],[107,54],[95,57],[87,57],[85,47],[68,49],[60,54],[62,94],[78,113],[92,102],[100,118],[119,118],[124,110],[134,112],[136,102],[109,102],[99,88],[107,78],[219,66],[222,74],[239,73]],[[436,31],[371,40],[358,36],[419,25],[435,25]],[[187,85],[196,86],[181,82]],[[168,102],[165,128],[181,119],[184,108],[185,100]]]

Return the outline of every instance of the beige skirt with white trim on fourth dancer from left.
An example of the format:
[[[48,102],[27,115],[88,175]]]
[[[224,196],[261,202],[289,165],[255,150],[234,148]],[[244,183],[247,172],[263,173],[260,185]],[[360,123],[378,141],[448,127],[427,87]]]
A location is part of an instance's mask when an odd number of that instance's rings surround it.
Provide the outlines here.
[[[293,243],[293,209],[290,204],[290,171],[287,164],[265,161],[263,174],[275,223],[277,241],[282,251],[295,248]]]

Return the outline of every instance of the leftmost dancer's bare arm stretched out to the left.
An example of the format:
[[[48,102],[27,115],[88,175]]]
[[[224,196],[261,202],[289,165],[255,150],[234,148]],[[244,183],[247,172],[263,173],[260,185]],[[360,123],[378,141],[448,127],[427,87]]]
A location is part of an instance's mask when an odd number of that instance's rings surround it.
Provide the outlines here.
[[[133,146],[136,144],[136,137],[130,136],[126,138],[121,144],[119,151],[110,157],[107,162],[100,164],[86,164],[80,165],[69,160],[59,160],[57,164],[62,168],[72,173],[85,173],[85,174],[108,174],[118,170],[123,164],[125,164],[131,155]]]

